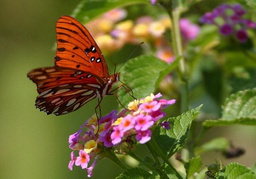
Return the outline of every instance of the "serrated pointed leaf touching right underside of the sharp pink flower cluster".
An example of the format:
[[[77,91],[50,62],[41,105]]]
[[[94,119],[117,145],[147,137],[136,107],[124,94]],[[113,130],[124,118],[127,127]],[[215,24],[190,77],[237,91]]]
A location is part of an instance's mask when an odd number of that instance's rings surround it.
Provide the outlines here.
[[[170,122],[171,129],[166,130],[163,127],[157,126],[153,132],[153,137],[162,149],[164,154],[169,158],[178,152],[185,144],[188,131],[192,121],[199,114],[199,106],[189,110],[178,117],[171,117],[167,121]]]

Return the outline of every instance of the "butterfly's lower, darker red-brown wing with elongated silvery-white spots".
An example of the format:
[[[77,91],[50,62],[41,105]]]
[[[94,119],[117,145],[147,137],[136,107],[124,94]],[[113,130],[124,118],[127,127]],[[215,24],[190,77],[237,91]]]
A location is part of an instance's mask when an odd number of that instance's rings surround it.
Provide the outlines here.
[[[97,97],[105,81],[90,73],[46,67],[35,69],[28,77],[37,84],[36,107],[47,114],[66,114]]]

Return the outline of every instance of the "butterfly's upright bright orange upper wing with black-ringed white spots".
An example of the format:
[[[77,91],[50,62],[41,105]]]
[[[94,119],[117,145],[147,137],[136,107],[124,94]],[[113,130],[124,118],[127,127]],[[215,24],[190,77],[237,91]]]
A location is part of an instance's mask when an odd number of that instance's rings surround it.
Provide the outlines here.
[[[90,71],[108,77],[108,67],[100,48],[89,31],[76,19],[61,16],[56,24],[57,52],[55,65],[79,71]]]

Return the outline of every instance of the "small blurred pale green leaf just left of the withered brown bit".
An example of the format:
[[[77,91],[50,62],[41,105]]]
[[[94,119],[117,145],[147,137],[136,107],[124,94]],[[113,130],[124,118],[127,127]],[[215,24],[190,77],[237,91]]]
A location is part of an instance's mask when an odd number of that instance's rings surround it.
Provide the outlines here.
[[[202,146],[195,149],[196,155],[201,155],[209,151],[226,151],[229,147],[229,141],[226,138],[215,138],[209,142],[205,142]]]

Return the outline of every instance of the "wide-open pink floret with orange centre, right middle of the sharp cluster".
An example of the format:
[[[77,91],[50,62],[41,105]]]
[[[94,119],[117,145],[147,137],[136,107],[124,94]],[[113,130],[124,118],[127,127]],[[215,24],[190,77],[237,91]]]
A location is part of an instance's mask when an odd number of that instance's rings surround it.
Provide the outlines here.
[[[154,125],[154,121],[150,115],[145,116],[144,114],[139,114],[134,117],[134,120],[136,121],[134,129],[137,131],[146,131],[149,127]]]

